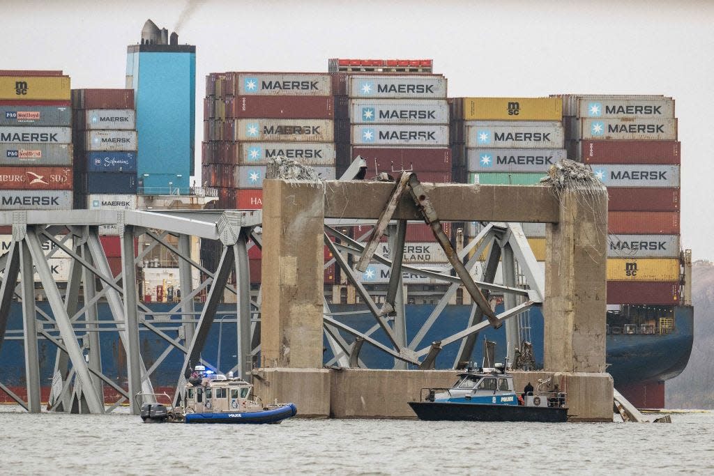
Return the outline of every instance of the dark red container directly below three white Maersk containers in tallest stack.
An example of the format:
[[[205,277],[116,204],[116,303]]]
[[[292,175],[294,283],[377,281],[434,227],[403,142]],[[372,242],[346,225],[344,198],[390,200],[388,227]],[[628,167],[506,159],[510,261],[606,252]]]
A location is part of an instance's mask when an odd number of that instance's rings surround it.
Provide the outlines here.
[[[366,161],[368,174],[375,168],[451,172],[451,148],[353,147],[351,156],[361,156]]]

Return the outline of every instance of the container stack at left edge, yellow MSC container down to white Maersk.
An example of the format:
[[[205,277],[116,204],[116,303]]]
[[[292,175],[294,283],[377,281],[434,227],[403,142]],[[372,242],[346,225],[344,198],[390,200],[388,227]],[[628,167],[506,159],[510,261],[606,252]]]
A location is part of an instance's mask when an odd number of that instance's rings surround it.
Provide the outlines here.
[[[0,210],[72,208],[70,79],[0,71]]]

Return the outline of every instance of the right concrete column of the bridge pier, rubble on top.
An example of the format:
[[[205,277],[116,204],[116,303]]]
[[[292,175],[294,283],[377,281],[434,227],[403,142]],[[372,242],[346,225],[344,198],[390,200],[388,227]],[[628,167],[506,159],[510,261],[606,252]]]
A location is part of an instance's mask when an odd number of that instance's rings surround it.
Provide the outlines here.
[[[546,227],[544,364],[555,372],[605,372],[608,193],[560,192],[558,223]]]

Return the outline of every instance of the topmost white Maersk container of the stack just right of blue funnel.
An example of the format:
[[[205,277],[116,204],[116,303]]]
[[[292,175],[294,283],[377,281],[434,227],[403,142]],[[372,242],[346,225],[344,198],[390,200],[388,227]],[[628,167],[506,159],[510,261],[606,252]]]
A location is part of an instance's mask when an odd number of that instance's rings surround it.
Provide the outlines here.
[[[241,73],[234,74],[234,86],[223,94],[242,96],[332,96],[329,74]]]

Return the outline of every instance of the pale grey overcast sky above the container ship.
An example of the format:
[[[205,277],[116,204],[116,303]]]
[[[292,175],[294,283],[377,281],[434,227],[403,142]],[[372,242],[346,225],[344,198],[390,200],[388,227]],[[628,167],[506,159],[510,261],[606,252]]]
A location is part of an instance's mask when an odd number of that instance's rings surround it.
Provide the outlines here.
[[[73,88],[124,87],[126,45],[139,41],[144,21],[174,31],[183,17],[179,42],[196,45],[198,142],[206,74],[326,71],[331,57],[432,58],[449,96],[673,96],[682,243],[695,259],[714,259],[713,2],[0,0],[0,7],[1,68],[62,69]]]

